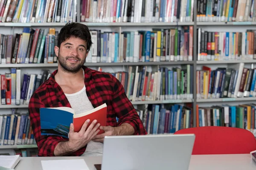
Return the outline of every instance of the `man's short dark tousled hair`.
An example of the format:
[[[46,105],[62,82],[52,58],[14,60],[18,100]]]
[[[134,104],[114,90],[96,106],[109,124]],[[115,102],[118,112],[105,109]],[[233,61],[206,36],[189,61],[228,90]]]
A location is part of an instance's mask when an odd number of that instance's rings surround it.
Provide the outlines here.
[[[79,37],[87,42],[87,51],[90,51],[92,45],[91,34],[89,28],[81,23],[67,23],[63,28],[61,28],[58,34],[58,47],[61,43],[69,39],[70,37]]]

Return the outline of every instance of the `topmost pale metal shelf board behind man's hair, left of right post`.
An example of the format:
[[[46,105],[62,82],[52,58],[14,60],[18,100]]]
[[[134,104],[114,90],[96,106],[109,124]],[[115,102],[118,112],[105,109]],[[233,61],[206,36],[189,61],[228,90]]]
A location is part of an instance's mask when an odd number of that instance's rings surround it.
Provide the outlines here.
[[[193,26],[194,22],[156,22],[156,23],[87,23],[80,22],[87,26]],[[32,27],[32,26],[45,26],[45,27],[55,27],[64,26],[67,23],[0,23],[0,26],[9,27]]]

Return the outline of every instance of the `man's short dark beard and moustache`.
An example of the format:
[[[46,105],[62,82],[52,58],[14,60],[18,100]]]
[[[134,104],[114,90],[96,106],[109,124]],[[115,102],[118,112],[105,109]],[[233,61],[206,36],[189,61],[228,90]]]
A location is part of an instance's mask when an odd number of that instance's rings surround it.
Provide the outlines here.
[[[67,59],[70,59],[70,58],[76,59],[78,63],[67,63]],[[85,58],[81,60],[78,57],[71,57],[71,56],[63,57],[61,56],[60,53],[58,54],[58,64],[61,65],[62,70],[65,72],[77,73],[84,65],[84,62],[85,62]]]

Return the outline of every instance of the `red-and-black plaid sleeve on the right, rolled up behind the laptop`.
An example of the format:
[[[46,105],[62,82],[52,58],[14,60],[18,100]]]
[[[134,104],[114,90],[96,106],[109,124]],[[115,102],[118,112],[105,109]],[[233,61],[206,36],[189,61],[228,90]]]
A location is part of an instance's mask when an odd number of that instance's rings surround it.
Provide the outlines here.
[[[125,94],[125,90],[122,84],[116,77],[112,77],[113,80],[113,100],[112,106],[119,121],[117,125],[128,123],[134,127],[134,135],[146,135],[147,132],[144,129],[143,123],[140,117],[132,105],[131,101]]]

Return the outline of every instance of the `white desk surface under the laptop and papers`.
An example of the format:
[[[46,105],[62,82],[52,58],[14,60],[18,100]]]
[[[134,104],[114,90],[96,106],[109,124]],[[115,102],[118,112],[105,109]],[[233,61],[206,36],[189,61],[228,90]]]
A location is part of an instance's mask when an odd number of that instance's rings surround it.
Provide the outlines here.
[[[21,157],[15,170],[42,170],[41,160],[84,159],[90,170],[101,164],[102,157]],[[181,160],[182,163],[182,160]],[[250,154],[192,155],[189,170],[256,170]]]

